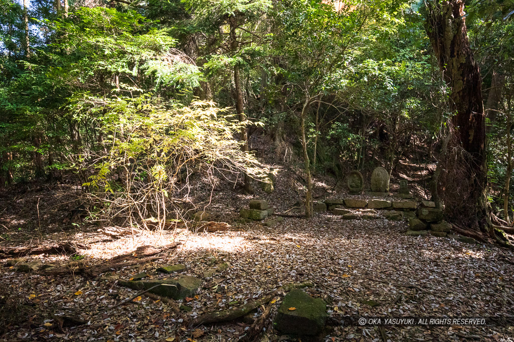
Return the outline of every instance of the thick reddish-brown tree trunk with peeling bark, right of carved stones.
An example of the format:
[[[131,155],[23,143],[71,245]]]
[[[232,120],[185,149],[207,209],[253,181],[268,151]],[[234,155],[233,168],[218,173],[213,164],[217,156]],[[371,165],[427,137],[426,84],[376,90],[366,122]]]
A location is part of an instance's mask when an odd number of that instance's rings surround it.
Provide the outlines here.
[[[476,217],[473,229],[483,230],[489,219],[486,196],[487,165],[482,77],[471,52],[463,0],[433,0],[427,3],[427,33],[445,82],[451,88],[455,116],[452,126],[456,142],[465,153],[464,181],[467,194],[449,212]],[[469,212],[471,209],[473,213]],[[448,208],[447,208],[448,209]],[[469,216],[468,216],[469,217]],[[488,230],[489,234],[491,230]],[[494,232],[492,231],[492,234]]]

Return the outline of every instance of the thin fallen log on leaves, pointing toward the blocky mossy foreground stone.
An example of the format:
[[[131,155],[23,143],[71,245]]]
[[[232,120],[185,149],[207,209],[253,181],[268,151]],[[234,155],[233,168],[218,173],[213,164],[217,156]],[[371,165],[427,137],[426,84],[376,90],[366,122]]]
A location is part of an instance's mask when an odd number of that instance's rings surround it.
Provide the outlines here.
[[[201,324],[212,324],[212,323],[221,323],[226,321],[231,321],[240,317],[243,317],[250,313],[252,310],[260,307],[261,305],[268,304],[271,299],[273,299],[276,295],[281,292],[287,292],[292,289],[300,289],[308,286],[313,286],[313,283],[310,281],[305,281],[304,283],[294,283],[294,284],[286,284],[272,294],[264,296],[258,300],[249,301],[245,305],[237,307],[231,310],[210,312],[203,315],[200,315],[191,321],[191,326],[196,327]]]

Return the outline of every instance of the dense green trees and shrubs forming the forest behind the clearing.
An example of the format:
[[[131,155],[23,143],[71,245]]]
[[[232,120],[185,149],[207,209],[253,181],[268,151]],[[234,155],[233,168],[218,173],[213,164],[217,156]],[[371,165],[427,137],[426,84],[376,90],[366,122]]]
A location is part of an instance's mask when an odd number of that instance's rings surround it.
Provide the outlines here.
[[[414,179],[405,170],[421,165],[418,186],[454,222],[512,222],[511,1],[467,2],[466,14],[401,0],[0,7],[0,187],[75,184],[90,219],[132,224],[182,210],[195,179],[251,193],[298,167],[310,216],[312,175],[384,166]],[[459,75],[464,86],[438,40],[446,8],[477,76]],[[464,103],[483,98],[478,172],[455,138],[457,88],[475,91]]]

